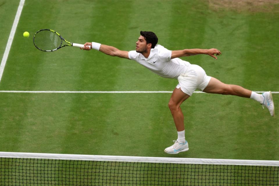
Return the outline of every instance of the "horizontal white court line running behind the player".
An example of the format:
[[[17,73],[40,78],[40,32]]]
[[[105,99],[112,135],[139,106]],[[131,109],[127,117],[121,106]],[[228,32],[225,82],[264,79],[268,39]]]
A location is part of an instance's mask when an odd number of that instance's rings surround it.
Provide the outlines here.
[[[0,93],[172,93],[173,91],[19,91],[19,90],[0,90]],[[263,93],[265,91],[254,91],[256,93]],[[194,93],[205,93],[195,91]],[[279,92],[271,92],[272,94],[279,94]]]

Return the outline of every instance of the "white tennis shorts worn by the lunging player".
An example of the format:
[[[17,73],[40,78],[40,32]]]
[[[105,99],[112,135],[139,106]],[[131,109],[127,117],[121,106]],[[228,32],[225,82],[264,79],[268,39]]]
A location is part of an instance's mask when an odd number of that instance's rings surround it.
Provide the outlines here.
[[[196,89],[203,91],[211,77],[206,75],[202,67],[191,64],[185,74],[180,74],[177,79],[179,83],[176,88],[181,88],[182,92],[192,96]]]

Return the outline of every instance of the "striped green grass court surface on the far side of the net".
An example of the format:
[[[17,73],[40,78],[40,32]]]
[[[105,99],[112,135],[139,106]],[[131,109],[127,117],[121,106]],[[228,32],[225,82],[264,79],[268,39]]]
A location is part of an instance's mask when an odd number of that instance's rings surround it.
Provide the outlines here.
[[[15,15],[19,1],[0,1]],[[275,6],[278,8],[278,6]],[[14,16],[3,17],[3,56]],[[141,30],[154,31],[170,50],[217,48],[218,60],[183,58],[224,83],[278,91],[279,13],[212,9],[207,1],[26,0],[0,90],[171,91],[134,61],[75,47],[41,52],[32,37],[42,28],[76,43],[134,50]],[[2,24],[1,24],[2,25]],[[182,105],[189,151],[164,153],[177,137],[171,94],[0,93],[1,151],[98,155],[279,160],[278,117],[249,99],[193,94]],[[278,108],[278,94],[273,95]]]

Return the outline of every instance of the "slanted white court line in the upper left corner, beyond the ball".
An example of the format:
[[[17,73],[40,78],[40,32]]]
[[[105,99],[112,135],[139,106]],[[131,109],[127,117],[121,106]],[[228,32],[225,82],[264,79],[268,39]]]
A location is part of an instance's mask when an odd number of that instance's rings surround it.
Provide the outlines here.
[[[2,61],[1,61],[1,65],[0,65],[0,82],[1,82],[3,71],[4,71],[4,68],[5,68],[5,65],[6,65],[6,61],[8,59],[9,53],[10,53],[10,49],[11,49],[11,46],[12,46],[12,40],[14,39],[14,36],[15,36],[15,31],[17,29],[17,24],[19,22],[19,17],[20,17],[21,12],[22,12],[24,1],[25,0],[20,0],[20,2],[19,2],[19,6],[17,8],[17,14],[15,15],[15,20],[14,20],[14,23],[12,24],[12,30],[10,32],[8,43],[6,45],[6,49],[5,49],[5,52],[4,52]]]

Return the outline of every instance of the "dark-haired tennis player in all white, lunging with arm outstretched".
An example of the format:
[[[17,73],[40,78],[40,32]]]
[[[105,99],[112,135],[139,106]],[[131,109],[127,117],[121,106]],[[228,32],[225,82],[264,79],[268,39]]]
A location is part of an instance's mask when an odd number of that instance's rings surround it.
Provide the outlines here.
[[[153,32],[141,31],[136,42],[136,50],[121,51],[115,47],[87,42],[83,50],[96,49],[110,56],[117,56],[135,60],[155,74],[165,78],[178,79],[178,85],[174,89],[169,100],[169,109],[174,119],[178,138],[174,144],[164,151],[169,154],[176,154],[189,149],[185,140],[184,116],[180,108],[181,103],[188,99],[198,89],[213,94],[235,95],[244,98],[251,98],[267,107],[270,115],[274,116],[274,103],[271,92],[257,94],[238,85],[222,83],[214,77],[206,75],[203,68],[192,65],[179,57],[206,54],[217,59],[221,54],[218,49],[183,49],[171,51],[157,44],[158,38]],[[82,49],[82,48],[81,48]],[[215,56],[216,55],[216,56]]]

